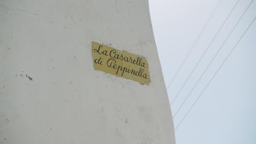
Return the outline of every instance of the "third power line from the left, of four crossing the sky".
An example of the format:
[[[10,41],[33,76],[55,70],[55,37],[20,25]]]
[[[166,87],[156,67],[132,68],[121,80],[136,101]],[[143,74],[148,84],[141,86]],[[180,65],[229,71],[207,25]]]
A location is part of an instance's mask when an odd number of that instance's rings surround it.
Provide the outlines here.
[[[253,2],[254,0],[252,0]],[[238,23],[240,22],[240,20],[242,19],[243,15],[245,15],[246,11],[248,10],[248,8],[251,6],[252,2],[248,5],[248,7],[246,8],[246,10],[243,12],[242,16],[240,17],[240,19],[236,22],[236,25],[234,28],[232,28],[231,32],[229,33],[228,37],[226,37],[226,39],[224,40],[222,46],[219,47],[219,50],[217,51],[217,53],[214,55],[214,57],[212,58],[211,62],[207,65],[207,68],[205,69],[205,71],[203,71],[203,73],[201,74],[201,76],[199,77],[199,80],[197,80],[197,82],[195,83],[194,87],[191,89],[191,91],[189,92],[189,94],[187,95],[187,97],[185,98],[185,100],[183,101],[182,105],[179,106],[179,109],[176,111],[176,113],[173,115],[173,118],[177,115],[177,113],[179,112],[179,110],[181,110],[181,107],[183,106],[183,104],[185,103],[185,101],[188,99],[189,95],[193,92],[194,88],[196,87],[197,83],[201,80],[202,76],[205,74],[206,70],[210,67],[211,63],[213,62],[213,60],[216,58],[216,56],[218,55],[219,51],[222,49],[223,45],[226,43],[226,40],[229,39],[230,35],[232,34],[232,32],[234,31],[234,29],[236,28],[236,26],[238,25]]]

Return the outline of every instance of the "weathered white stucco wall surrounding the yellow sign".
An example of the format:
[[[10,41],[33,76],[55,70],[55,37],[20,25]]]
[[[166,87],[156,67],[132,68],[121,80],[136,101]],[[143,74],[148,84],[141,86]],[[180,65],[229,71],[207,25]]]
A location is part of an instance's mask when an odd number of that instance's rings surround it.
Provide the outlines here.
[[[147,58],[94,70],[91,42]],[[146,0],[0,0],[0,143],[175,143]]]

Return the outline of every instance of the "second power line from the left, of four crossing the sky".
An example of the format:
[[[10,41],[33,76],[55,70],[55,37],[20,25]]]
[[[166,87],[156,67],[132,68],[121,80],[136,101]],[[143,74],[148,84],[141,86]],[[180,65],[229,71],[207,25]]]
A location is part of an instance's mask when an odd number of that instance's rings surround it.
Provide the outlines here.
[[[174,99],[172,100],[171,105],[174,103],[174,101],[176,100],[176,98],[178,97],[179,93],[181,93],[182,89],[184,88],[184,86],[186,85],[186,83],[188,82],[190,76],[194,73],[195,69],[197,68],[197,66],[199,65],[199,63],[201,62],[203,56],[205,56],[205,53],[208,51],[208,49],[210,48],[210,46],[212,45],[213,41],[216,39],[217,35],[219,34],[220,30],[223,28],[224,24],[226,23],[226,21],[229,19],[229,16],[231,15],[232,11],[235,9],[237,3],[240,0],[238,0],[236,2],[236,4],[234,5],[234,7],[232,8],[232,10],[230,11],[229,15],[226,17],[225,21],[222,23],[222,26],[220,26],[218,32],[214,35],[214,38],[212,39],[211,43],[208,45],[208,47],[206,48],[206,50],[203,52],[202,56],[200,57],[199,61],[196,63],[194,69],[191,71],[191,73],[189,74],[187,80],[183,83],[181,89],[179,89],[179,92],[176,94],[176,96],[174,97]]]

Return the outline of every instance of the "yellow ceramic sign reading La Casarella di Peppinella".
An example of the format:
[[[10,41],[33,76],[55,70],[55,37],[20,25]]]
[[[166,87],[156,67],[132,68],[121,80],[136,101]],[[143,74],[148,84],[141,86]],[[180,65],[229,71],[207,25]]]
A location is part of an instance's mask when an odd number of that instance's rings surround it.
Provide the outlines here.
[[[92,42],[92,60],[95,70],[149,84],[147,59],[127,51]]]

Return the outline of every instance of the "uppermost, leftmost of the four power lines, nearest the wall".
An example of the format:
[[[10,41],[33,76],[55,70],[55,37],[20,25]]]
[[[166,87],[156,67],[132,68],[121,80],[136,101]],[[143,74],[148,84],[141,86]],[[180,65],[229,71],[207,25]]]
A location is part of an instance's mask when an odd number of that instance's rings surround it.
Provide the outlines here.
[[[189,50],[187,56],[185,57],[185,59],[183,60],[182,64],[179,66],[178,70],[177,70],[176,73],[174,74],[174,76],[173,76],[171,82],[169,83],[169,85],[168,85],[168,87],[167,87],[167,90],[168,90],[168,88],[170,88],[170,86],[172,85],[172,82],[173,82],[173,80],[176,78],[177,74],[179,73],[179,70],[181,70],[181,68],[183,67],[184,62],[187,61],[187,58],[188,58],[188,56],[190,55],[190,52],[192,51],[192,49],[193,49],[193,48],[195,47],[195,45],[197,44],[197,41],[201,38],[202,33],[205,31],[206,27],[208,26],[208,23],[211,22],[212,17],[213,17],[214,14],[216,13],[216,11],[219,9],[219,6],[220,6],[220,4],[221,4],[222,2],[223,2],[223,0],[220,0],[220,1],[218,2],[218,4],[216,5],[216,7],[214,8],[214,10],[212,11],[212,14],[210,15],[210,17],[209,17],[208,20],[206,21],[205,26],[203,26],[201,32],[200,32],[199,35],[197,36],[197,38],[196,38],[196,40],[194,41],[193,45],[190,47],[190,50]]]

